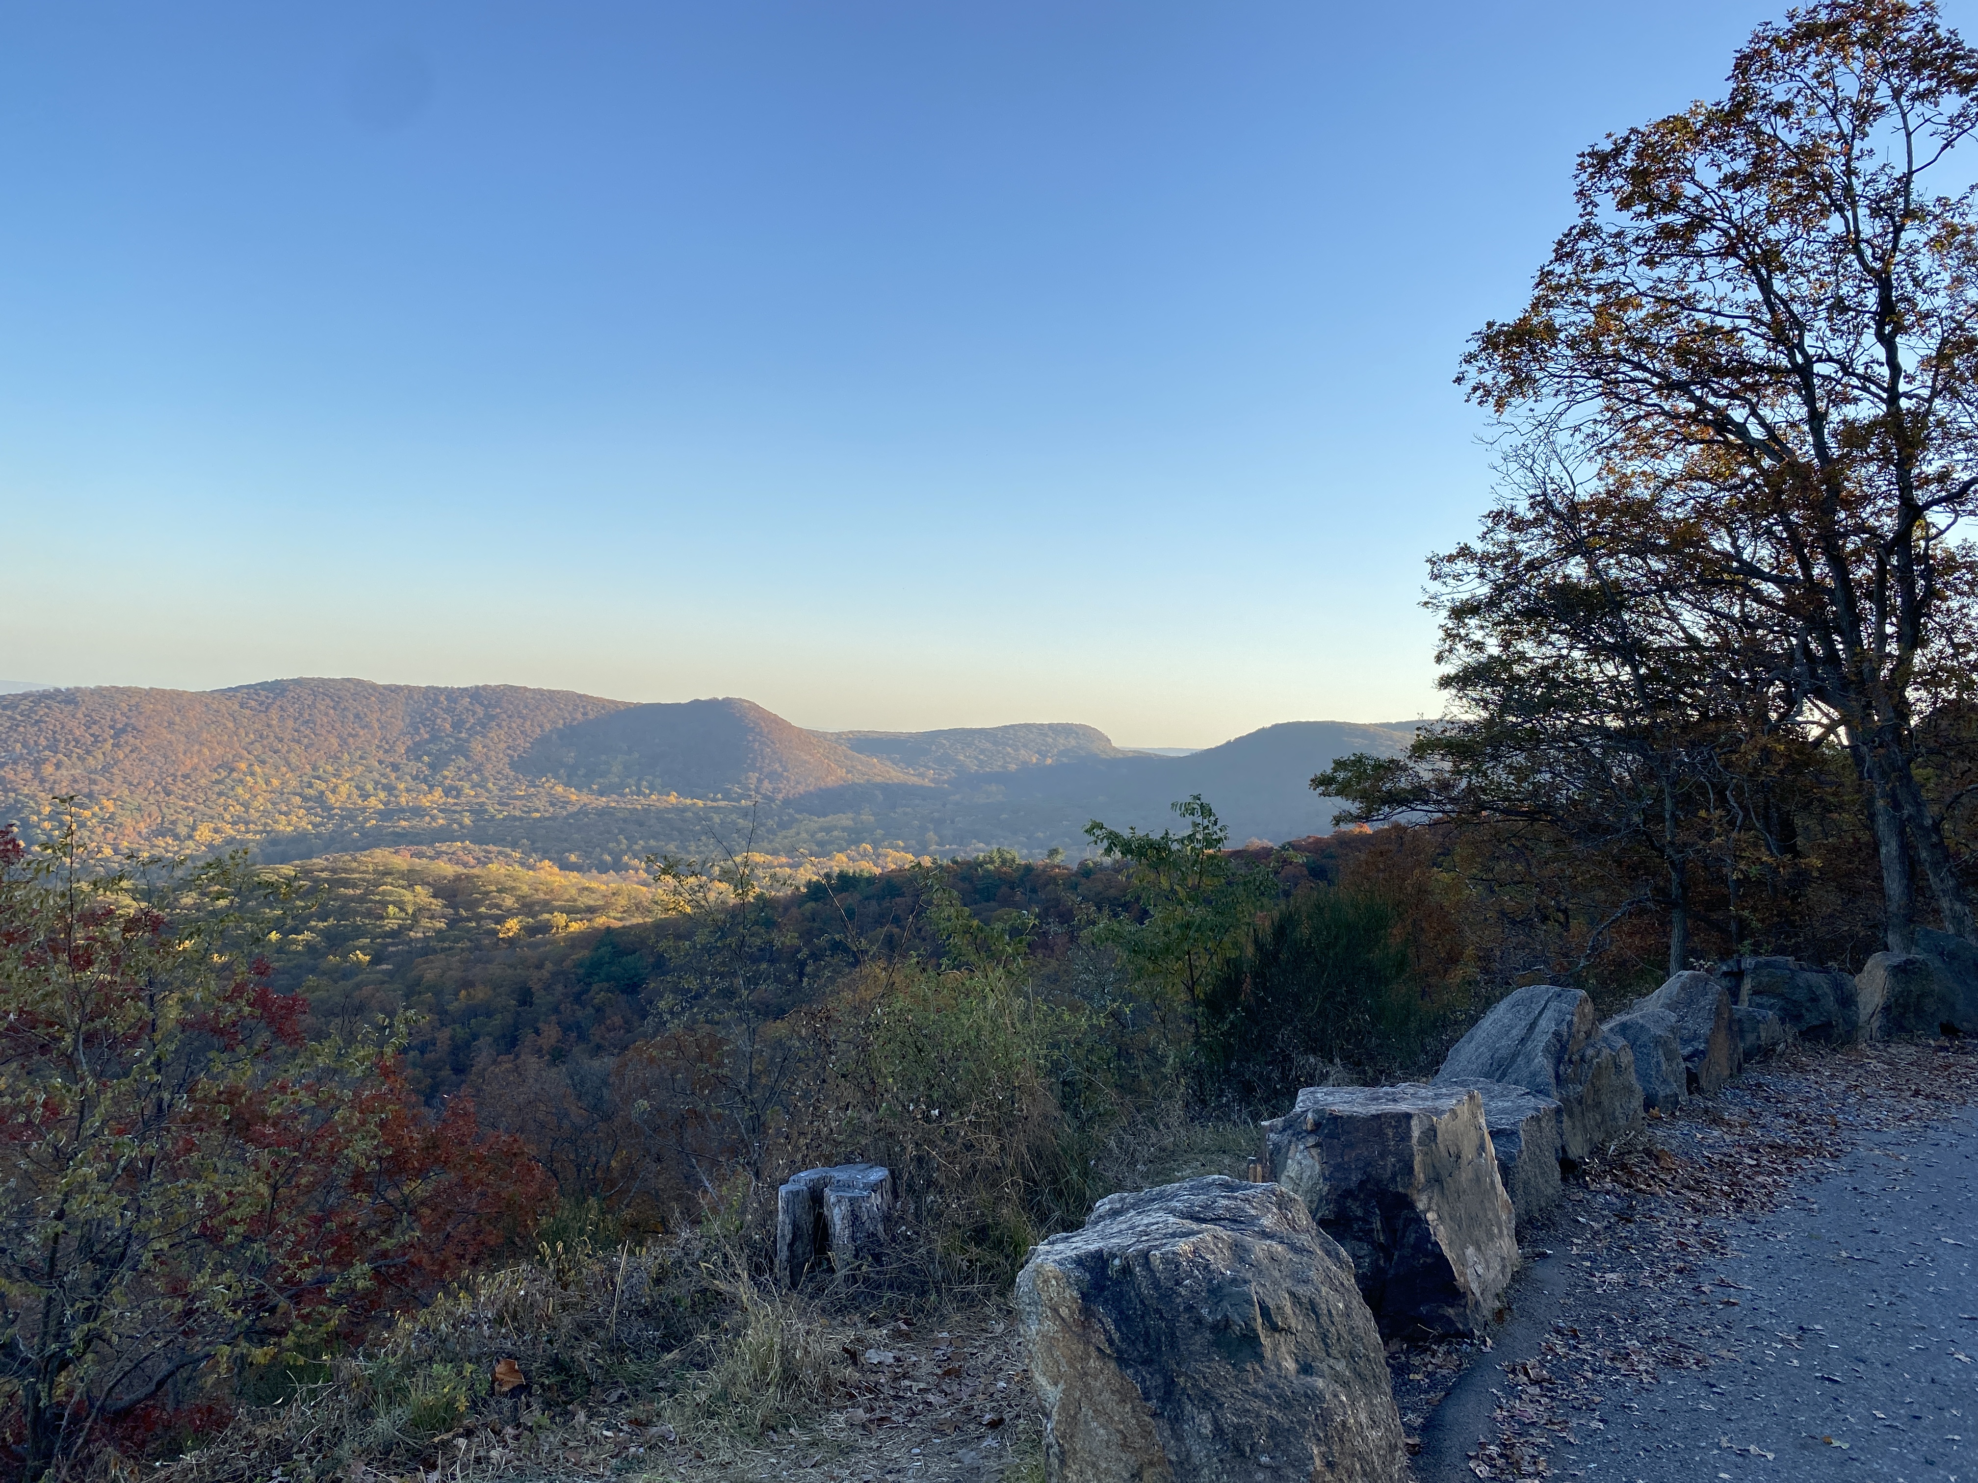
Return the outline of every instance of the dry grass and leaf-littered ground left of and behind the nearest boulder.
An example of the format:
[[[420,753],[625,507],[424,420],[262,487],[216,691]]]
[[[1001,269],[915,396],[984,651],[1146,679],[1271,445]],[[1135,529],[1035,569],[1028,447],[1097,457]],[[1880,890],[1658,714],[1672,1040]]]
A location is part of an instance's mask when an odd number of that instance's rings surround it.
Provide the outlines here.
[[[1240,1175],[1254,1143],[1248,1123],[1141,1123],[1110,1141],[1094,1188]],[[785,1293],[752,1271],[740,1228],[708,1232],[542,1246],[362,1352],[263,1376],[283,1392],[275,1404],[142,1471],[158,1483],[1042,1477],[1005,1293],[944,1289],[912,1244],[890,1265]],[[504,1362],[520,1378],[506,1390]]]

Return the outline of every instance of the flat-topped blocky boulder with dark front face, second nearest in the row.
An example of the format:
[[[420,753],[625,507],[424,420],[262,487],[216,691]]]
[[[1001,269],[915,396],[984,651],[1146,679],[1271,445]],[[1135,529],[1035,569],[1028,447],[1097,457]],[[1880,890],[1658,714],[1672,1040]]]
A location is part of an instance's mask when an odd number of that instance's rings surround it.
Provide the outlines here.
[[[1517,1236],[1478,1091],[1305,1088],[1264,1123],[1264,1167],[1347,1250],[1389,1333],[1476,1333],[1497,1311]]]

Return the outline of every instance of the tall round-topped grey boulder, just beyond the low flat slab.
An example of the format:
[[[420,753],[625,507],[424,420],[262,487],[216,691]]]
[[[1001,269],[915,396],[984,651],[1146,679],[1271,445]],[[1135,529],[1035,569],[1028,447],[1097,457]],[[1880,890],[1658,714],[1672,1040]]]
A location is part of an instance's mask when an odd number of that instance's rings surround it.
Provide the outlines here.
[[[1535,983],[1505,995],[1436,1072],[1436,1084],[1509,1082],[1563,1111],[1574,1163],[1642,1125],[1634,1048],[1606,1034],[1578,989]]]

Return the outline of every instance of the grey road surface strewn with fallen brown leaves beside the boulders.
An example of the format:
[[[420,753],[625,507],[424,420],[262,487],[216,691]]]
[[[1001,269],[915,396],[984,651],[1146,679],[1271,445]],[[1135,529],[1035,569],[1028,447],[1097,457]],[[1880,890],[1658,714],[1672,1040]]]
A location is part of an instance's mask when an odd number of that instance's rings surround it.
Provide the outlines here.
[[[1428,1418],[1422,1483],[1978,1483],[1970,1107],[1855,1133],[1768,1214],[1658,1218],[1580,1194],[1541,1232],[1563,1250]]]

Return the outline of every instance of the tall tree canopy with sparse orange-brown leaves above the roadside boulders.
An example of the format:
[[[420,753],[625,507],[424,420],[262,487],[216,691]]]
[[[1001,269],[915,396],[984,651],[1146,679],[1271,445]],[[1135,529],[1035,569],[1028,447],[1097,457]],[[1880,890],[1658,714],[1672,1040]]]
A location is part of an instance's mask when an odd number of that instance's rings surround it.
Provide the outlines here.
[[[1776,848],[1760,773],[1834,740],[1889,945],[1919,870],[1970,937],[1919,726],[1972,682],[1974,127],[1978,51],[1933,4],[1826,0],[1760,26],[1723,99],[1586,150],[1578,219],[1464,360],[1511,477],[1434,567],[1450,724],[1315,785],[1632,834],[1675,965],[1689,862]]]

